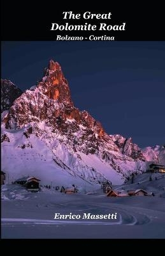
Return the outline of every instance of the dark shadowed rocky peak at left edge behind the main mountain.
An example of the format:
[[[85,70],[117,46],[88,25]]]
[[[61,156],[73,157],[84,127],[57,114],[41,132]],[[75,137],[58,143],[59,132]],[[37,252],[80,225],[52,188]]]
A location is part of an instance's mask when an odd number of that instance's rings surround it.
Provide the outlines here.
[[[22,91],[10,80],[1,79],[1,113],[8,110],[21,94]]]

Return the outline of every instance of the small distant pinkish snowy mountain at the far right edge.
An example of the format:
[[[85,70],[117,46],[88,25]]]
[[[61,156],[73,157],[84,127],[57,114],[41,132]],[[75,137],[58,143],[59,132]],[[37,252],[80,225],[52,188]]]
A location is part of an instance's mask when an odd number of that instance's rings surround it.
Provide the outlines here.
[[[165,145],[146,147],[143,148],[142,152],[147,161],[165,165]]]

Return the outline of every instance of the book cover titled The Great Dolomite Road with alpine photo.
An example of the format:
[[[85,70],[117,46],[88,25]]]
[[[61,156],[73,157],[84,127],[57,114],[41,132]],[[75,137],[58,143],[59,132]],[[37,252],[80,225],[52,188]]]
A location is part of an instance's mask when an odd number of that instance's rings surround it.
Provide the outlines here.
[[[164,238],[160,8],[17,7],[2,4],[1,238]]]

